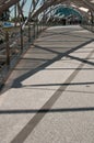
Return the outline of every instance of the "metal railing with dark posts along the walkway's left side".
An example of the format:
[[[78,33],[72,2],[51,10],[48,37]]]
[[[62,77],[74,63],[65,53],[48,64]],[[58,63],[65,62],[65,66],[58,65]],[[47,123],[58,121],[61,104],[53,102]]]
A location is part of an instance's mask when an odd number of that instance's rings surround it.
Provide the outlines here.
[[[4,42],[0,44],[0,87],[21,55],[45,29],[37,22],[25,25],[24,30],[22,26],[4,29]]]

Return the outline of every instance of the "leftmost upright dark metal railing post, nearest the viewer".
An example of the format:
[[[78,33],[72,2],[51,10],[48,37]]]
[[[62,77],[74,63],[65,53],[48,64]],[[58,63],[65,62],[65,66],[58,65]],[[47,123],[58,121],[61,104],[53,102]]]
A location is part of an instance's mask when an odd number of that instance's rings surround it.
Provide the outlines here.
[[[10,45],[9,45],[9,32],[5,32],[5,50],[7,50],[7,65],[10,66]]]

